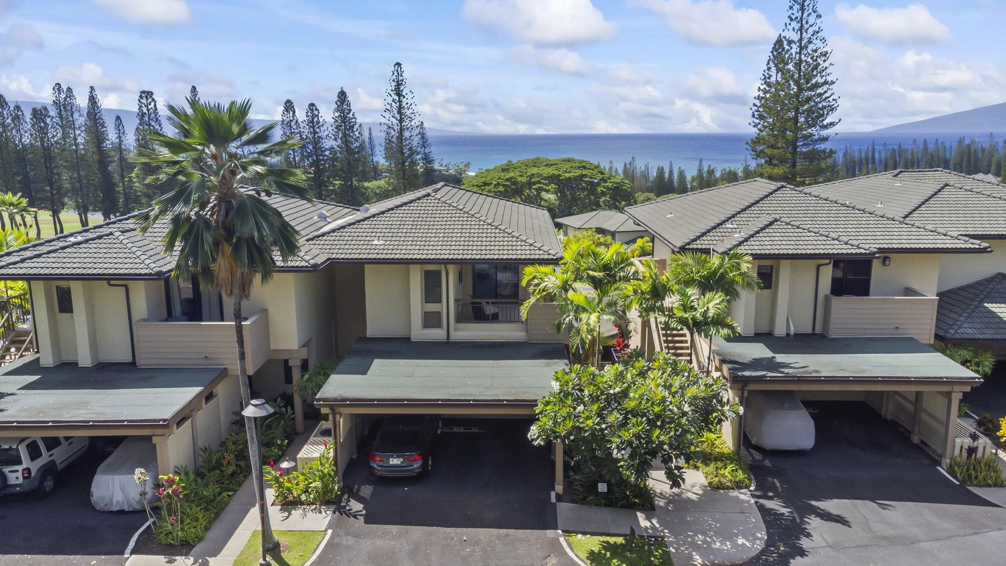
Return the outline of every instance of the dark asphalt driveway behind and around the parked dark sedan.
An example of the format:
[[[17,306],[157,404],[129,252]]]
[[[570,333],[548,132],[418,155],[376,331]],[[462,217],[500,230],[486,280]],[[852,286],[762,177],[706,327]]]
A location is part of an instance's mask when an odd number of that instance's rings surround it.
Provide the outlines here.
[[[346,470],[349,507],[318,563],[572,565],[548,535],[554,468],[548,448],[527,440],[530,422],[468,424],[484,432],[442,433],[425,477],[371,477],[364,446]]]

